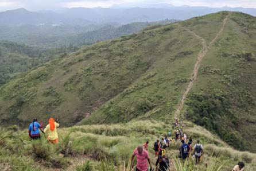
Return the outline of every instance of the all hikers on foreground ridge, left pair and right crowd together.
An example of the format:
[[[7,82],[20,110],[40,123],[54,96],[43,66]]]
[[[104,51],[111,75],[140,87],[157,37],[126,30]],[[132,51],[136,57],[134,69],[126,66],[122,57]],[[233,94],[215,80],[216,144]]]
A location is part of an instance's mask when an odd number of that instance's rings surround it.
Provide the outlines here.
[[[59,143],[59,138],[57,134],[57,127],[59,127],[59,120],[53,118],[49,119],[48,125],[46,125],[45,129],[42,130],[42,121],[40,123],[37,122],[37,119],[33,119],[33,122],[29,125],[29,137],[31,139],[41,139],[40,131],[44,134],[45,138],[47,135],[47,141],[53,144]],[[161,141],[157,140],[154,142],[154,154],[156,157],[156,170],[157,171],[168,171],[170,170],[169,158],[166,156],[166,148],[169,147],[170,144],[180,141],[182,145],[179,148],[179,158],[181,160],[187,160],[190,156],[195,157],[195,164],[199,164],[203,158],[203,145],[201,145],[200,140],[197,139],[196,144],[192,147],[193,139],[190,137],[187,143],[187,135],[183,133],[181,129],[177,129],[175,132],[175,140],[171,137],[170,131],[168,131],[168,137],[161,138]],[[169,139],[168,139],[169,138]],[[134,151],[133,156],[131,157],[131,161],[134,160],[134,157],[137,157],[137,165],[135,166],[135,171],[147,171],[148,170],[148,162],[150,165],[150,170],[152,169],[152,162],[149,158],[148,153],[149,141],[144,143],[142,146],[139,145]],[[243,171],[245,164],[243,162],[239,162],[238,165],[235,165],[232,171]]]

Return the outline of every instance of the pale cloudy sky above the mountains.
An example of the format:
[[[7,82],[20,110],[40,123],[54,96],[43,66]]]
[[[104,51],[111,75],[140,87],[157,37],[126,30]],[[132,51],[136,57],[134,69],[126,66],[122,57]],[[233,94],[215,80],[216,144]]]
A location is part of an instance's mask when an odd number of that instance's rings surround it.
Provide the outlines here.
[[[256,0],[0,0],[0,10],[24,7],[28,10],[48,10],[60,7],[111,7],[113,5],[145,6],[170,3],[174,6],[256,7]]]

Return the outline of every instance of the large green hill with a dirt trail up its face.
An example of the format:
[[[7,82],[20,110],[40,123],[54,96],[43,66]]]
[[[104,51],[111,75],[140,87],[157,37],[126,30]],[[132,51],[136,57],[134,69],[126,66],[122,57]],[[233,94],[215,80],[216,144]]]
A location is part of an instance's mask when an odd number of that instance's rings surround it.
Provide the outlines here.
[[[3,85],[1,124],[170,122],[176,114],[255,149],[255,22],[223,11],[84,47]]]

